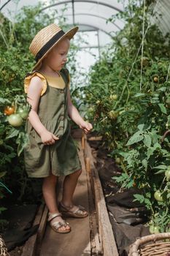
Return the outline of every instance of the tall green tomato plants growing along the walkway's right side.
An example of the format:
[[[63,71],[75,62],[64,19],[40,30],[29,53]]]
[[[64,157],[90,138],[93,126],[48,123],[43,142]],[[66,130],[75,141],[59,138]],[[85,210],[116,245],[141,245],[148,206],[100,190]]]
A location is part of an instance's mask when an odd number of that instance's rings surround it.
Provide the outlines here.
[[[165,137],[170,125],[169,34],[163,37],[158,26],[150,24],[153,1],[146,2],[146,7],[139,7],[137,1],[130,1],[125,12],[117,15],[125,20],[125,27],[92,67],[84,103],[109,154],[120,158],[124,173],[114,178],[122,187],[141,189],[135,200],[152,211],[151,224],[166,230],[170,221],[169,181],[164,176],[170,165],[170,140]],[[144,10],[144,31],[148,30],[142,56]],[[155,200],[157,190],[163,202]]]

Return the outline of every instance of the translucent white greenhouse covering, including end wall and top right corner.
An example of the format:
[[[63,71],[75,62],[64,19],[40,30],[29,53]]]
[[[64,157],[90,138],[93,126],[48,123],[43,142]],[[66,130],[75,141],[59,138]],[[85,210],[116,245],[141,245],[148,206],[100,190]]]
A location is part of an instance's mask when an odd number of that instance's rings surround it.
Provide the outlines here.
[[[95,61],[93,56],[100,56],[100,48],[105,48],[107,43],[112,42],[112,36],[123,29],[125,25],[123,20],[116,17],[112,21],[109,18],[123,12],[129,0],[1,0],[0,11],[10,20],[15,21],[15,14],[22,7],[34,7],[39,2],[42,4],[42,12],[48,14],[55,12],[55,23],[58,23],[62,17],[66,19],[66,24],[69,26],[80,27],[79,31],[83,33],[82,37],[86,42],[82,42],[80,46],[85,49],[83,57],[81,55],[79,58],[86,62],[87,66],[90,66]],[[155,0],[152,8],[154,15],[151,17],[151,23],[157,23],[161,31],[166,34],[170,31],[170,0]],[[79,37],[76,38],[79,40]],[[92,50],[91,56],[87,53],[86,48]]]

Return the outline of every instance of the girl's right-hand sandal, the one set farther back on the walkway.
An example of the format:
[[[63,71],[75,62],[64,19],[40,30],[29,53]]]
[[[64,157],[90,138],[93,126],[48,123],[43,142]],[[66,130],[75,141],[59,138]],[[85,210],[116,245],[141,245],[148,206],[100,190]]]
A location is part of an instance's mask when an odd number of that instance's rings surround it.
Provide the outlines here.
[[[77,206],[78,208],[75,211],[72,211],[74,206],[64,206],[63,203],[59,203],[61,213],[66,217],[73,217],[73,218],[85,218],[88,216],[88,212],[85,211],[85,208],[82,206]]]

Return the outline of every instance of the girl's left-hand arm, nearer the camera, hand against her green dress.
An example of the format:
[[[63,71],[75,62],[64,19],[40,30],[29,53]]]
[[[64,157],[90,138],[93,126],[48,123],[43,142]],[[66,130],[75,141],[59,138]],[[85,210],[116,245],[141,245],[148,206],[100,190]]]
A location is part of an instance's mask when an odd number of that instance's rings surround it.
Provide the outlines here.
[[[27,100],[31,105],[31,111],[29,113],[28,120],[41,137],[42,143],[44,143],[45,145],[51,145],[55,143],[55,140],[58,140],[58,138],[53,135],[53,133],[47,131],[37,114],[41,92],[42,80],[39,77],[35,76],[31,79],[31,83],[28,87]]]

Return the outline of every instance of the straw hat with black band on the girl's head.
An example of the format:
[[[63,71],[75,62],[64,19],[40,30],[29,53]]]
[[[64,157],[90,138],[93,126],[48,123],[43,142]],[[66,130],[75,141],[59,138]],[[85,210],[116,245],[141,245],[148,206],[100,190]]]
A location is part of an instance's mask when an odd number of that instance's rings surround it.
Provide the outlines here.
[[[36,65],[34,66],[33,70],[40,67],[42,64],[42,59],[45,58],[47,53],[49,53],[50,50],[61,41],[61,39],[65,37],[72,39],[77,30],[78,27],[76,26],[65,33],[54,23],[40,30],[29,46],[29,50],[35,56],[36,60]]]

